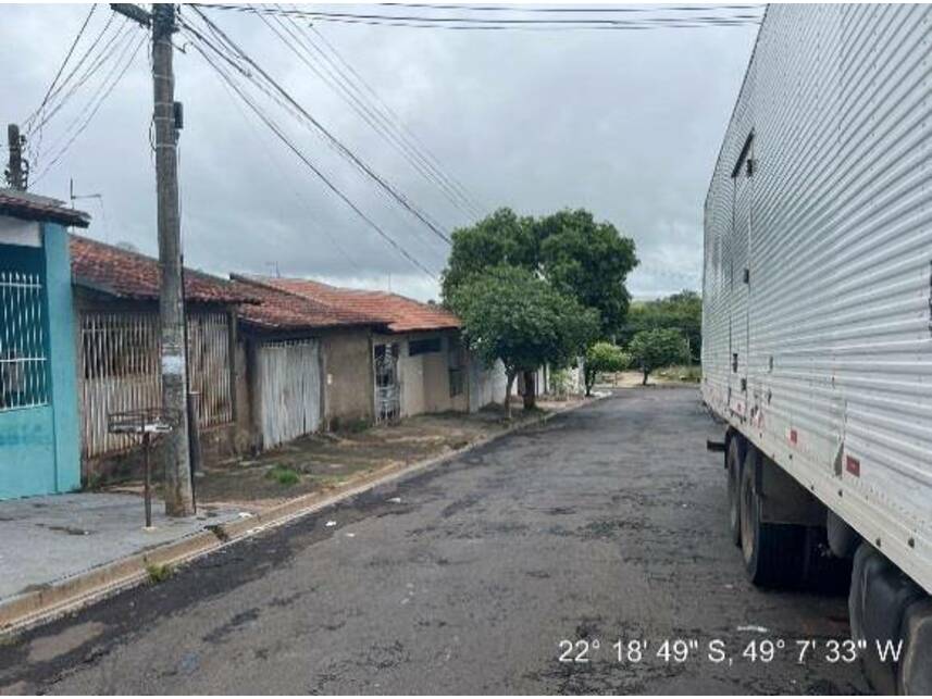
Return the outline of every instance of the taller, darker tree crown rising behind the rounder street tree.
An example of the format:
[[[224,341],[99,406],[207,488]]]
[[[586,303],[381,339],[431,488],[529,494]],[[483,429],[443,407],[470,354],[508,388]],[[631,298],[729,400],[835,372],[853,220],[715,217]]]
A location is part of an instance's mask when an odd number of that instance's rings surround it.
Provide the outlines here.
[[[588,211],[564,210],[534,219],[499,209],[455,230],[452,241],[444,270],[445,300],[471,276],[510,265],[598,311],[600,337],[621,330],[630,303],[625,280],[637,264],[634,241],[610,223],[596,223]]]

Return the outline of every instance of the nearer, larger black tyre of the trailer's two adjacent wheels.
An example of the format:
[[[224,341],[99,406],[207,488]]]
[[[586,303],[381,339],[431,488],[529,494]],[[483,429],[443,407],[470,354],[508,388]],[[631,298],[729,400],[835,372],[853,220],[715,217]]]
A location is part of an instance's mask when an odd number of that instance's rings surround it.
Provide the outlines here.
[[[761,467],[758,452],[748,447],[741,471],[741,549],[748,578],[760,587],[795,587],[799,584],[806,527],[761,522],[761,496],[755,473]]]

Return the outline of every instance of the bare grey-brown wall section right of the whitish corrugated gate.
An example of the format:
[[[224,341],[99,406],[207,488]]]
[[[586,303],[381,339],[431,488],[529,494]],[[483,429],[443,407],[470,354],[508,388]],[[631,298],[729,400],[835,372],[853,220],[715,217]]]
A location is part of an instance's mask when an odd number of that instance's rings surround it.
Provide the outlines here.
[[[339,429],[374,419],[372,345],[368,329],[321,337],[324,355],[324,425]]]

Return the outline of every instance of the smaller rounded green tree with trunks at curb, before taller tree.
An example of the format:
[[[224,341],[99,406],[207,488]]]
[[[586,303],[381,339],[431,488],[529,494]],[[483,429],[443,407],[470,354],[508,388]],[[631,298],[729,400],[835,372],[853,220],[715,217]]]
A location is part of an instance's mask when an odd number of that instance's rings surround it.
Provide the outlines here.
[[[519,372],[533,373],[548,362],[566,365],[598,333],[596,311],[517,266],[500,265],[470,275],[446,300],[462,322],[470,349],[488,366],[496,360],[505,364],[505,414],[509,419],[511,388]],[[533,380],[525,386],[524,405],[533,408]]]

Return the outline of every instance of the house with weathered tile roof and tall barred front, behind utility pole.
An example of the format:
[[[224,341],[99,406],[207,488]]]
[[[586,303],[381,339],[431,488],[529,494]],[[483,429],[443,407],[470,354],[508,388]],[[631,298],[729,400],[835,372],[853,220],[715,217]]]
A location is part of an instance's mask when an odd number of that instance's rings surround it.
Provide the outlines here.
[[[85,480],[136,466],[132,436],[110,434],[114,412],[161,404],[157,259],[72,235],[71,278],[77,334],[80,454]],[[249,441],[239,389],[236,312],[259,300],[228,279],[185,269],[188,382],[196,395],[208,458],[238,452]],[[237,361],[239,360],[239,361]]]

